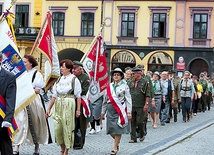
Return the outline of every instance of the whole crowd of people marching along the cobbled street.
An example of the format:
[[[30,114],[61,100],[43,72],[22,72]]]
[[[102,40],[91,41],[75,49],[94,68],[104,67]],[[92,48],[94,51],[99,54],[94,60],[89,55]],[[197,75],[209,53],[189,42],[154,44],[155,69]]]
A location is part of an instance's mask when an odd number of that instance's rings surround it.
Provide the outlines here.
[[[130,133],[129,143],[136,143],[138,138],[142,142],[150,118],[154,129],[158,125],[165,126],[172,119],[177,122],[178,112],[182,112],[182,122],[187,123],[198,112],[209,111],[213,97],[214,81],[206,72],[197,77],[184,71],[183,77],[175,77],[173,70],[144,73],[144,66],[139,64],[134,68],[127,67],[125,73],[120,68],[112,70],[111,83],[104,94],[93,103],[89,101],[87,109],[84,97],[89,91],[89,76],[79,61],[65,59],[60,62],[61,77],[53,85],[52,98],[45,110],[40,96],[44,81],[35,68],[38,63],[31,55],[25,55],[23,62],[37,97],[15,117],[19,132],[13,143],[9,136],[0,141],[2,155],[17,155],[20,145],[30,144],[35,145],[33,154],[39,155],[39,144],[52,143],[48,125],[50,116],[54,122],[55,141],[61,148],[60,155],[68,155],[70,148],[82,149],[88,126],[89,134],[99,132],[105,118],[106,132],[114,141],[110,154],[115,155],[119,151],[122,134]],[[0,69],[1,72],[4,70]],[[15,84],[11,89],[15,93]],[[12,99],[15,101],[14,97]],[[10,119],[11,115],[9,119],[0,119],[1,137],[11,125]]]

